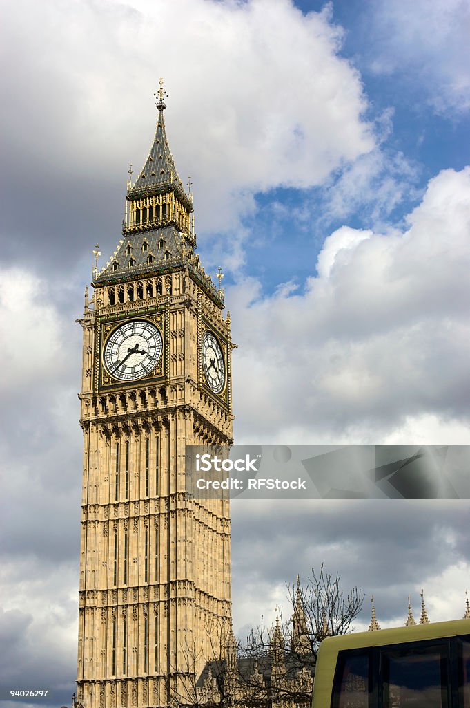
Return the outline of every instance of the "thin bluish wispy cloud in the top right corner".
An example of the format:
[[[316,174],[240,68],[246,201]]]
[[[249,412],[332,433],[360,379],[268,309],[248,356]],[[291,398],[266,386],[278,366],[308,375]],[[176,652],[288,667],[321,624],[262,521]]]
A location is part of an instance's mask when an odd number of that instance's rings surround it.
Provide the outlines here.
[[[413,85],[424,89],[438,113],[469,110],[467,0],[378,0],[368,7],[368,13],[372,15],[374,72],[413,75]]]

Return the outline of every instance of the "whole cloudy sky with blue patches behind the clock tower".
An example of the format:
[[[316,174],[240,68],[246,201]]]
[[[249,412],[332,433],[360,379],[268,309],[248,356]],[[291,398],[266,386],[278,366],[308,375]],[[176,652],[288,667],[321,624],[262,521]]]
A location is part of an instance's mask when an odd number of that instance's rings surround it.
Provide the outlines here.
[[[238,444],[469,445],[469,0],[1,0],[0,685],[76,678],[83,292],[165,122]],[[234,501],[236,632],[324,562],[462,617],[466,501]]]

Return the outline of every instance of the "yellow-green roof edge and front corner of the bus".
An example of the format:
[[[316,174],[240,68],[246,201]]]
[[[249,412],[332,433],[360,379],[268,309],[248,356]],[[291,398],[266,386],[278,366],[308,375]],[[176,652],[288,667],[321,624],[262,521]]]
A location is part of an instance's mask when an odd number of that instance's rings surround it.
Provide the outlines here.
[[[404,644],[406,641],[440,639],[460,634],[470,634],[470,619],[453,619],[449,622],[413,624],[411,627],[376,629],[375,632],[352,632],[340,636],[327,636],[320,644],[317,654],[312,708],[327,708],[330,705],[331,687],[339,651]]]

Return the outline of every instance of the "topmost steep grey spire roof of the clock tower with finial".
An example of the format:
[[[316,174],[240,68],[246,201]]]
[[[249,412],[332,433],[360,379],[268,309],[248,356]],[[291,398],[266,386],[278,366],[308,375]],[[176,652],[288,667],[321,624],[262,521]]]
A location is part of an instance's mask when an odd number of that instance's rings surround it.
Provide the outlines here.
[[[166,108],[165,101],[163,101],[165,93],[166,92],[163,91],[163,79],[160,79],[160,90],[155,94],[155,96],[158,97],[156,103],[158,118],[155,128],[155,137],[153,138],[153,144],[138,178],[134,185],[129,183],[127,196],[129,199],[139,198],[144,195],[175,189],[178,196],[180,196],[184,202],[187,202],[186,206],[192,211],[191,198],[184,191],[165,132],[165,120],[163,119],[163,111]]]

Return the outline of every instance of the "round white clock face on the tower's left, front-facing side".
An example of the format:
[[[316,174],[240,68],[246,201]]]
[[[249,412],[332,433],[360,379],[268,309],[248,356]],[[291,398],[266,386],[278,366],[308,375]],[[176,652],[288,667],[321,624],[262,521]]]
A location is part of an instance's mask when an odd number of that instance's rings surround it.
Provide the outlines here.
[[[158,327],[134,319],[114,330],[105,344],[103,358],[107,372],[121,381],[141,379],[158,364],[163,340]]]

